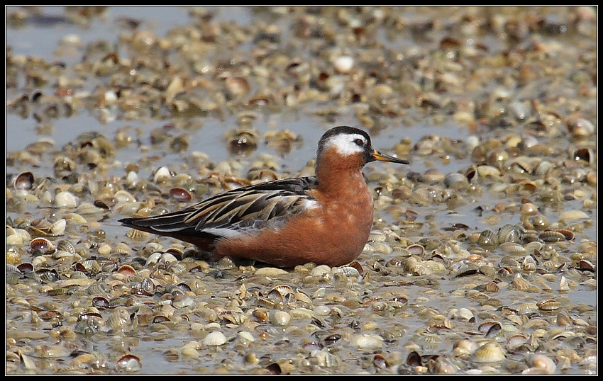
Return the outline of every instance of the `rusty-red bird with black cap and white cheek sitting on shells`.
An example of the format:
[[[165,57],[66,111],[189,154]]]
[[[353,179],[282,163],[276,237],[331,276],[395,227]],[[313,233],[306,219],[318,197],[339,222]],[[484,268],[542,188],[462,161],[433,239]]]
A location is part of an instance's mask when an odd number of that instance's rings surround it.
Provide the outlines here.
[[[243,186],[177,212],[118,222],[189,242],[214,258],[343,266],[362,254],[372,229],[374,200],[361,171],[372,161],[409,164],[372,148],[364,130],[341,125],[320,138],[314,176]]]

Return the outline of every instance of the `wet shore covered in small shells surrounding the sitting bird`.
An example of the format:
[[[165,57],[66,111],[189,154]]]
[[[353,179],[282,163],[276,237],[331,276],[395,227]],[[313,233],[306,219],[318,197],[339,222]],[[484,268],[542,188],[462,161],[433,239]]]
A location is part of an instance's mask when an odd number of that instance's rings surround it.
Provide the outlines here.
[[[6,374],[597,374],[598,8],[5,10]],[[411,161],[347,266],[117,222],[336,125]]]

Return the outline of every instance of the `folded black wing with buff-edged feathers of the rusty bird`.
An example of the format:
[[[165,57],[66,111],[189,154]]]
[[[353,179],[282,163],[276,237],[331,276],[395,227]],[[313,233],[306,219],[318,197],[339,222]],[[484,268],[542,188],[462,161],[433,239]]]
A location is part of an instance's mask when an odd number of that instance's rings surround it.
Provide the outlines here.
[[[216,237],[278,227],[304,210],[315,176],[285,178],[219,193],[178,212],[148,218],[125,218],[122,224],[157,234]]]

